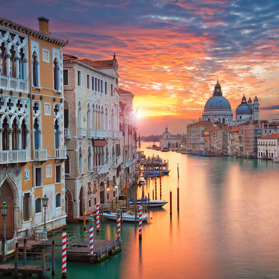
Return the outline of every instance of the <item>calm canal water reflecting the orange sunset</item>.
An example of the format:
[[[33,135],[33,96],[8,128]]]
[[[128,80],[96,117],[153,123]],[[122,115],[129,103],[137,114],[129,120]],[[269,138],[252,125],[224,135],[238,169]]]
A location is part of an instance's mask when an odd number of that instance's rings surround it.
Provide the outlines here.
[[[121,253],[94,266],[68,262],[67,278],[279,278],[278,163],[160,152],[142,145],[147,156],[169,161],[170,175],[162,178],[162,199],[168,201],[172,191],[172,216],[169,203],[150,210],[153,219],[143,224],[141,241],[138,226],[124,223]],[[159,179],[159,197],[158,186]],[[145,186],[150,197],[153,188],[151,180]],[[101,228],[116,228],[116,222],[104,221]],[[83,227],[69,224],[68,229]],[[56,275],[48,272],[47,276],[61,278],[61,248],[56,248]]]

